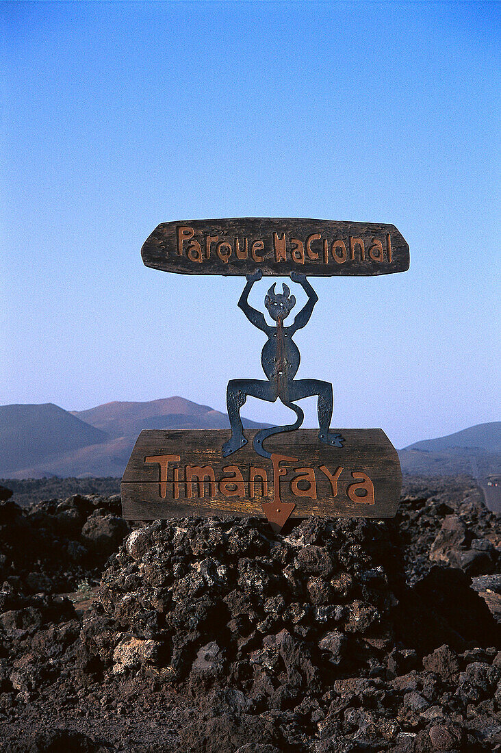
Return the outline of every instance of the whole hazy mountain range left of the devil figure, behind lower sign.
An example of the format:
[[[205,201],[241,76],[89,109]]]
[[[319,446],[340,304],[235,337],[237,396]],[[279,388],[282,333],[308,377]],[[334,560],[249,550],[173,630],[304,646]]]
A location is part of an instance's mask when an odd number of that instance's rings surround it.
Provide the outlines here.
[[[242,419],[246,428],[263,428]],[[228,416],[185,398],[67,411],[0,407],[0,478],[121,477],[143,428],[229,428]]]

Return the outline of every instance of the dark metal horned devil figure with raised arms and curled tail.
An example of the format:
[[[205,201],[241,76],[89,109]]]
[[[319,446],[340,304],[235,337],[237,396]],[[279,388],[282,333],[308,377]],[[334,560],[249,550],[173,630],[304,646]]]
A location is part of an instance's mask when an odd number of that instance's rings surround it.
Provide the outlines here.
[[[269,403],[274,403],[277,399],[280,399],[286,407],[294,410],[296,416],[298,416],[293,424],[272,426],[258,431],[252,443],[258,455],[264,458],[271,457],[271,454],[263,446],[267,437],[272,434],[280,434],[283,431],[294,431],[301,426],[304,413],[294,403],[303,398],[310,398],[312,395],[318,395],[319,440],[334,447],[343,447],[344,437],[341,434],[329,431],[332,416],[332,385],[322,380],[295,380],[294,378],[298,373],[301,355],[292,337],[298,329],[306,327],[310,321],[313,307],[319,300],[318,296],[307,281],[306,276],[293,271],[290,275],[292,282],[298,282],[302,286],[308,297],[307,303],[295,316],[292,325],[286,327],[284,320],[294,308],[296,299],[295,296],[290,294],[289,287],[285,283],[282,285],[283,292],[275,293],[275,283],[273,283],[264,298],[264,306],[266,306],[271,319],[276,322],[276,327],[267,325],[264,314],[253,309],[248,300],[252,285],[262,276],[261,269],[247,275],[247,284],[243,288],[238,305],[249,322],[267,335],[267,342],[264,343],[261,352],[261,364],[268,381],[240,379],[228,382],[226,403],[231,425],[231,439],[222,447],[223,457],[236,453],[237,450],[247,444],[246,437],[243,435],[240,408],[249,395],[252,398],[265,400]]]

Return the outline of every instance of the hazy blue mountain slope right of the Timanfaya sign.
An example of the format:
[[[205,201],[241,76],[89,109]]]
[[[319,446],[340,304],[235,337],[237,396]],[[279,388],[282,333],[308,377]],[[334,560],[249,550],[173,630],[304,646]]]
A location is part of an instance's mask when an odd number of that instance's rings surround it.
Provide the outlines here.
[[[402,471],[411,474],[469,474],[484,486],[501,472],[501,422],[478,424],[437,439],[414,442],[399,450]]]

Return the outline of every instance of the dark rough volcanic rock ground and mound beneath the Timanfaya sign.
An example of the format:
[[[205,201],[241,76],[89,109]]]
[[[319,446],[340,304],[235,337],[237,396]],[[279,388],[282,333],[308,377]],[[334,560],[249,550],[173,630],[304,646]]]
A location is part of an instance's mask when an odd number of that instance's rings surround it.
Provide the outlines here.
[[[278,536],[117,513],[0,505],[0,751],[501,750],[501,521],[471,480]]]

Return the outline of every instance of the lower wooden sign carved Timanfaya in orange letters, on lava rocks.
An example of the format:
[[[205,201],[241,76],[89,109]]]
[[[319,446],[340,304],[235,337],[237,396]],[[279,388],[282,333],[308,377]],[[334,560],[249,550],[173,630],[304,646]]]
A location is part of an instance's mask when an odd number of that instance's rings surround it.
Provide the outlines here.
[[[289,516],[393,517],[399,503],[399,456],[379,429],[336,429],[342,448],[318,431],[298,429],[267,439],[271,458],[249,444],[223,458],[231,431],[139,434],[121,483],[128,520],[264,516],[280,530]]]

